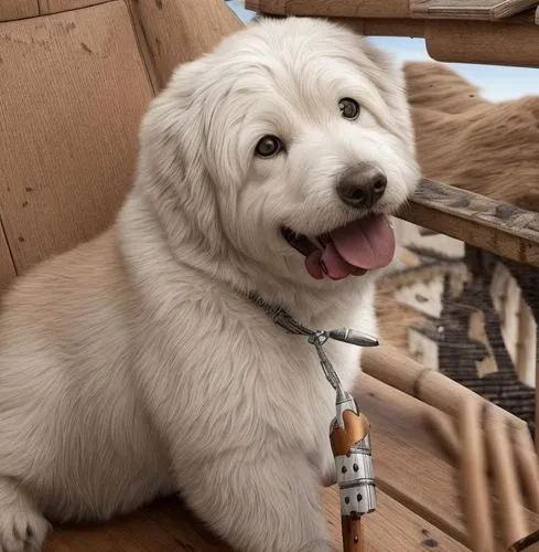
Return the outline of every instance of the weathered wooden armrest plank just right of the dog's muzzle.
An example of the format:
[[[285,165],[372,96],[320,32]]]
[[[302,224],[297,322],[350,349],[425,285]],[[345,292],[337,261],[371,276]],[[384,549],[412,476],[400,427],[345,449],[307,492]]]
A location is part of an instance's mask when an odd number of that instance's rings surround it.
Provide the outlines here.
[[[398,216],[503,257],[539,266],[539,213],[423,180]]]

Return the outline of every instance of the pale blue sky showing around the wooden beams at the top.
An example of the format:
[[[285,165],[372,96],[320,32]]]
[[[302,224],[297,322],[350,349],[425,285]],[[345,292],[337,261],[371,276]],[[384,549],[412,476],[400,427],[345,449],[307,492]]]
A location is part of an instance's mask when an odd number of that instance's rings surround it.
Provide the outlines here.
[[[228,4],[242,21],[248,21],[254,17],[252,12],[244,8],[242,0],[231,0]],[[376,36],[371,38],[370,41],[392,53],[399,62],[430,60],[422,39]],[[539,94],[539,68],[464,63],[450,63],[448,65],[481,88],[483,97],[493,102],[519,98],[527,94]]]

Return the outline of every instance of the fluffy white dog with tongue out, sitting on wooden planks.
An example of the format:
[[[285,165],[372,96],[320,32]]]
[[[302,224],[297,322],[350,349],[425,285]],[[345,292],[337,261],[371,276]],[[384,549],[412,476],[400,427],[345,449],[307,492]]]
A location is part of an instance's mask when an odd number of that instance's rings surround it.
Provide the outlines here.
[[[115,226],[3,298],[0,551],[170,492],[237,550],[330,551],[334,392],[247,294],[376,331],[419,179],[401,74],[339,26],[261,21],[180,67],[140,141]],[[326,349],[351,389],[357,348]]]

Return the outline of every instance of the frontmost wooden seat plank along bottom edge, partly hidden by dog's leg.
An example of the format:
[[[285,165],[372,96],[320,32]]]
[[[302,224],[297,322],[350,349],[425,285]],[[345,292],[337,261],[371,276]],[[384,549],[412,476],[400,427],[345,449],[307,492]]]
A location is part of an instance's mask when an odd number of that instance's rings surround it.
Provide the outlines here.
[[[420,516],[382,491],[378,508],[365,521],[365,549],[369,552],[399,550],[417,552],[435,548],[446,552],[467,550]],[[333,542],[341,548],[341,513],[336,487],[322,493],[324,516]],[[93,527],[55,527],[43,552],[231,552],[175,497],[159,500],[138,512]]]

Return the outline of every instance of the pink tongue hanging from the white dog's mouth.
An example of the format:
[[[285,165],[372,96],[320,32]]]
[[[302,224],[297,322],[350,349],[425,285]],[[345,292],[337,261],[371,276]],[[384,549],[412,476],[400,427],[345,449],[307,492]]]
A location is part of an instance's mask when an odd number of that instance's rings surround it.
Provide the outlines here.
[[[395,234],[384,215],[337,229],[331,233],[331,238],[323,252],[314,252],[305,259],[313,278],[320,279],[321,269],[332,279],[342,279],[356,268],[381,268],[391,263],[395,255]]]

